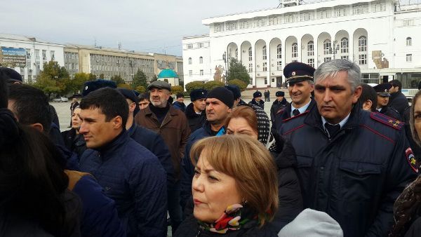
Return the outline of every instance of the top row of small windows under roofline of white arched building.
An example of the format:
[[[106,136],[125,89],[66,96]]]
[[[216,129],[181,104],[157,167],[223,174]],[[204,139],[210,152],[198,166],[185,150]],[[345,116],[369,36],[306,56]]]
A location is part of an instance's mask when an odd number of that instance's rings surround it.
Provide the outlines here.
[[[248,20],[238,20],[230,22],[215,23],[213,31],[224,32],[237,29],[248,29],[255,27],[266,27],[270,25],[280,25],[283,23],[303,22],[309,20],[321,20],[327,18],[338,18],[347,15],[360,15],[386,11],[385,1],[375,1],[371,4],[354,4],[352,6],[335,6],[333,8],[319,8],[314,11],[302,11],[298,13],[285,13],[283,15],[274,15],[263,18],[254,18]]]

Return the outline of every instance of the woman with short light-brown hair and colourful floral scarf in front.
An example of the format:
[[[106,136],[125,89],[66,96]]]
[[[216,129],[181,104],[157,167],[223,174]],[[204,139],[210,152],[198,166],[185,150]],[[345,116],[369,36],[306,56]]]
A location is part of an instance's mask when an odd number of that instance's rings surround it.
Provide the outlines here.
[[[277,236],[266,228],[278,208],[276,166],[258,140],[207,137],[194,144],[190,157],[194,215],[175,236]]]

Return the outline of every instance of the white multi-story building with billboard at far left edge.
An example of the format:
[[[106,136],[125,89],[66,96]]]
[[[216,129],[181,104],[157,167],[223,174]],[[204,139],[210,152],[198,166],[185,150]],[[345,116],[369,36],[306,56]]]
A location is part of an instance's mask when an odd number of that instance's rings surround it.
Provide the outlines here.
[[[44,62],[54,60],[60,66],[65,65],[63,57],[65,46],[62,44],[27,36],[0,34],[0,47],[0,65],[20,72],[26,83],[36,81]]]

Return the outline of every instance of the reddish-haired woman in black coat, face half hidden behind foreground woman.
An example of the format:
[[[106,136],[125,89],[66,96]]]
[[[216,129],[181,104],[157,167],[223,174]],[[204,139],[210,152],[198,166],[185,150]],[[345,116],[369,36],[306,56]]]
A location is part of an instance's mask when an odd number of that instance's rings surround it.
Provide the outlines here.
[[[241,105],[232,109],[225,127],[227,134],[253,137],[265,145],[272,154],[278,177],[279,209],[269,226],[275,231],[281,230],[303,210],[295,150],[281,136],[271,133],[269,117],[255,105]]]

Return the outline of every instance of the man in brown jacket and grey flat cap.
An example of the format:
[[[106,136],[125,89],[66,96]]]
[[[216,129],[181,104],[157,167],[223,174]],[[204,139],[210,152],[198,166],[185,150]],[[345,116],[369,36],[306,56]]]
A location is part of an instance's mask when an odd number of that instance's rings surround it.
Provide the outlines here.
[[[147,86],[151,103],[149,107],[140,110],[135,116],[135,122],[161,134],[171,153],[175,171],[175,184],[168,187],[168,212],[171,217],[173,233],[182,222],[180,206],[180,163],[185,153],[185,147],[190,135],[189,122],[185,114],[174,109],[168,98],[171,86],[165,81],[154,81]]]

